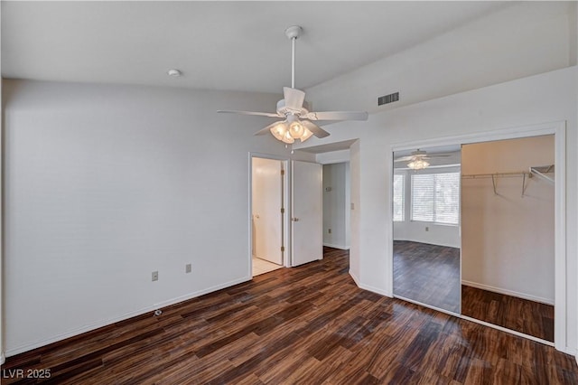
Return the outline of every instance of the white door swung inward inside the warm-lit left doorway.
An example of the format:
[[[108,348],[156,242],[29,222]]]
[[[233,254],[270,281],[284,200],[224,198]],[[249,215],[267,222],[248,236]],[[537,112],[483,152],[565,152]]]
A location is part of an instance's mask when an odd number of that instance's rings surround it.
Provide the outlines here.
[[[253,158],[253,255],[283,265],[282,162]]]

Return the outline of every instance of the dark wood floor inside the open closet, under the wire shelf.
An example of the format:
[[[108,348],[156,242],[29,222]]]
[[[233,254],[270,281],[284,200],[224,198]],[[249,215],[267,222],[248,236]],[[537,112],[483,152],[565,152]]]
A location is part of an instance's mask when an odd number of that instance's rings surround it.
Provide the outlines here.
[[[461,314],[554,343],[554,306],[461,286]]]

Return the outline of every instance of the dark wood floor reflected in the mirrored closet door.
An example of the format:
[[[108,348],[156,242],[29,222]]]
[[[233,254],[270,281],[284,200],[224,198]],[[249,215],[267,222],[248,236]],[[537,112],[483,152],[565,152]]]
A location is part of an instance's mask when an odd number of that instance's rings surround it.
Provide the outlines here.
[[[394,240],[394,294],[460,313],[460,249]]]

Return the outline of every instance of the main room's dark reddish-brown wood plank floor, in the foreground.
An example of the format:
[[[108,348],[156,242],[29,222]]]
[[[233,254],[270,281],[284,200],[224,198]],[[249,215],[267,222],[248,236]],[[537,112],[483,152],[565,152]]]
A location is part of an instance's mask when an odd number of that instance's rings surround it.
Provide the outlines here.
[[[541,343],[357,287],[345,251],[10,357],[59,384],[577,384]]]

